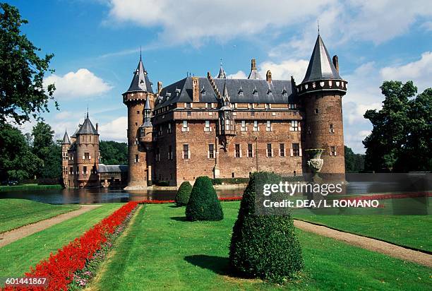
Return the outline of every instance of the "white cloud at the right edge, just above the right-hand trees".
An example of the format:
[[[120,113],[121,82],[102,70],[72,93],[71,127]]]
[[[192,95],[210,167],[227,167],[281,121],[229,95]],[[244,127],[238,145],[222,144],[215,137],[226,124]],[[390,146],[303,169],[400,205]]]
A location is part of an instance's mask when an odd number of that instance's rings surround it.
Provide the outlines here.
[[[421,59],[400,66],[388,66],[380,70],[383,80],[414,81],[422,92],[432,87],[432,52],[424,52]]]

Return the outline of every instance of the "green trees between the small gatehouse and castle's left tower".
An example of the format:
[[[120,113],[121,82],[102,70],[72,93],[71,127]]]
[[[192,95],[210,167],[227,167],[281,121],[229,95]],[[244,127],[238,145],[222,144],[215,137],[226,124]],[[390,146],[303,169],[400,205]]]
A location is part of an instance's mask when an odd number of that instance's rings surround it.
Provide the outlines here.
[[[100,141],[101,162],[105,165],[128,165],[128,146],[116,141]]]

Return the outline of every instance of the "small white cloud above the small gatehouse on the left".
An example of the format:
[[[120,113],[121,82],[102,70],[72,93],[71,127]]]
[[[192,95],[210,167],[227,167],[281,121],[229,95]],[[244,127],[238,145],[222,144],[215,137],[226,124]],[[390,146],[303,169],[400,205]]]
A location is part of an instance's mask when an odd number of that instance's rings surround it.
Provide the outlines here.
[[[112,86],[95,76],[88,69],[78,69],[76,72],[66,73],[64,76],[52,74],[44,79],[44,85],[54,83],[56,98],[79,98],[98,96],[112,89]]]

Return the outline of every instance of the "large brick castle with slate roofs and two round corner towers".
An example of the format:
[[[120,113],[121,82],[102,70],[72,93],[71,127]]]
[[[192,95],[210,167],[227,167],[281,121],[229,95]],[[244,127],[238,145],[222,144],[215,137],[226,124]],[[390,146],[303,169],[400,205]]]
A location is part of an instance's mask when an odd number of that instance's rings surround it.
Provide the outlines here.
[[[337,56],[330,59],[320,35],[298,85],[294,78],[274,80],[270,71],[261,78],[252,59],[247,79],[226,78],[221,65],[216,78],[188,76],[164,88],[157,82],[155,93],[140,58],[123,94],[128,187],[258,170],[302,174],[308,171],[304,150],[311,148],[324,149],[321,172],[343,175],[346,92]]]

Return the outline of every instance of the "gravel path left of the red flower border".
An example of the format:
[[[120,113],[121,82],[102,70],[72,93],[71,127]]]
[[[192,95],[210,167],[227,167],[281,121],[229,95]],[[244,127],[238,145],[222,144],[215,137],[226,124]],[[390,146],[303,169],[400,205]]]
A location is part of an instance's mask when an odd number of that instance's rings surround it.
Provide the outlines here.
[[[30,234],[40,232],[41,230],[52,227],[53,225],[63,222],[64,220],[74,218],[97,207],[100,207],[100,205],[82,205],[80,209],[69,211],[67,213],[54,216],[53,218],[31,223],[30,225],[24,225],[23,227],[19,227],[16,230],[3,232],[0,234],[0,247],[4,247],[7,244],[11,244],[11,242],[15,242],[16,240],[22,239],[23,237],[28,237]]]

